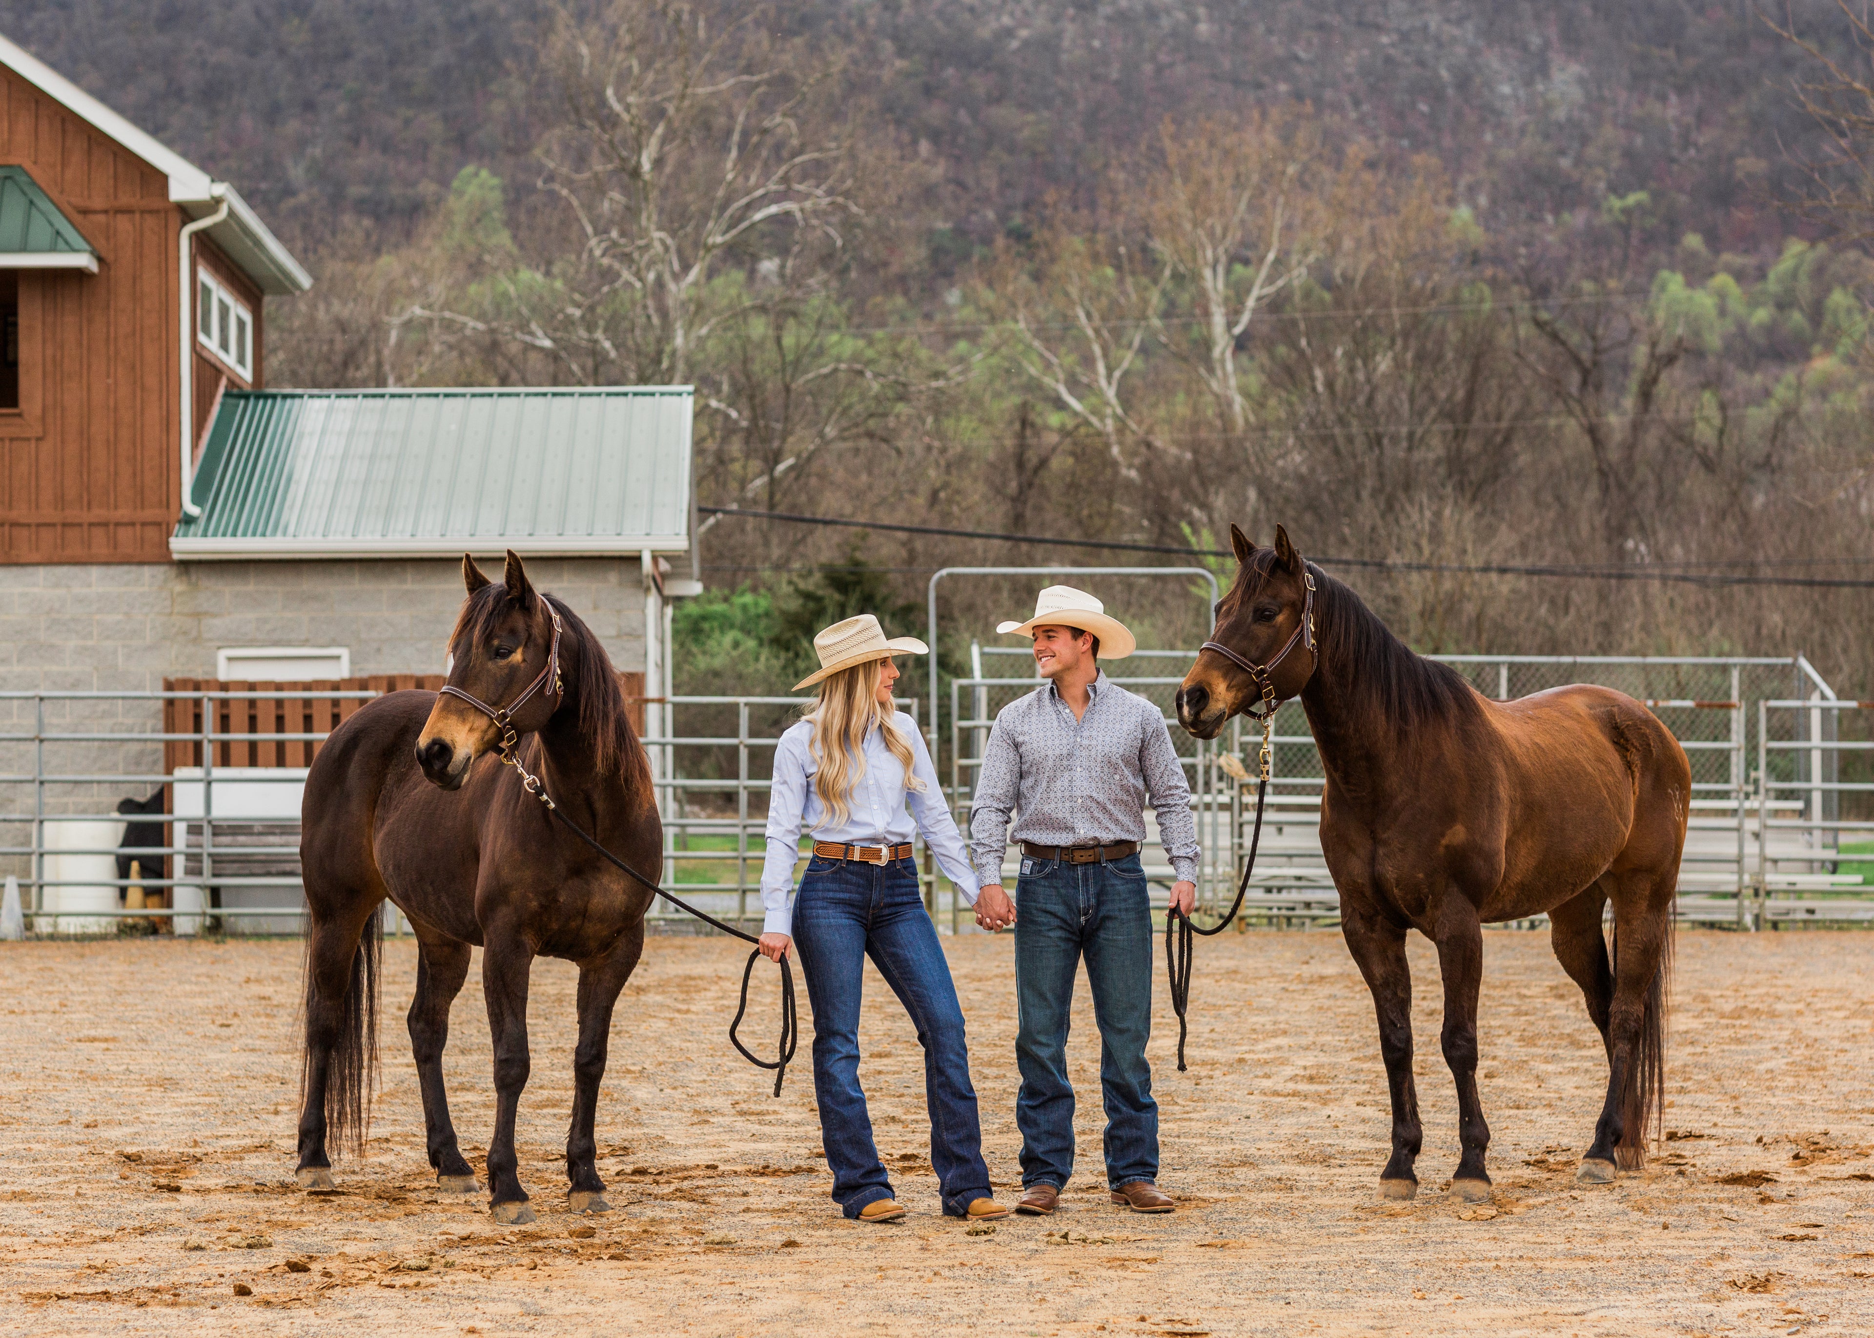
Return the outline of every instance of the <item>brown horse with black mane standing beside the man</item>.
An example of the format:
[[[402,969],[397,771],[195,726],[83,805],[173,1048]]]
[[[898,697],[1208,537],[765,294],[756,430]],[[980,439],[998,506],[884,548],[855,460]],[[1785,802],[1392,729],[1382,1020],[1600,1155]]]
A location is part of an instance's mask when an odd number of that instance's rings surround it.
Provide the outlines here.
[[[1608,688],[1490,701],[1406,648],[1353,590],[1302,562],[1280,527],[1272,549],[1235,525],[1229,538],[1237,579],[1177,712],[1199,738],[1259,703],[1299,695],[1308,712],[1327,776],[1321,849],[1347,950],[1374,993],[1392,1089],[1381,1194],[1419,1190],[1406,931],[1437,944],[1464,1149],[1452,1190],[1479,1199],[1490,1194],[1490,1126],[1477,1100],[1482,926],[1542,913],[1608,1053],[1608,1094],[1578,1179],[1612,1181],[1615,1162],[1638,1167],[1662,1102],[1672,901],[1692,795],[1685,750]],[[1608,901],[1612,963],[1600,931]]]

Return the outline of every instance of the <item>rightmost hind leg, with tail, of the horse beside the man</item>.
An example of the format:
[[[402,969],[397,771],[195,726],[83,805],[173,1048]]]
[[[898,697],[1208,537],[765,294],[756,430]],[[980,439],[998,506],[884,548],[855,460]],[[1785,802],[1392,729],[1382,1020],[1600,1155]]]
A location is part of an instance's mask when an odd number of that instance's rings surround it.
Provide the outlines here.
[[[1638,1169],[1664,1078],[1666,973],[1672,954],[1673,877],[1636,870],[1612,875],[1614,1003],[1608,1010],[1608,1096],[1578,1179],[1606,1182]]]

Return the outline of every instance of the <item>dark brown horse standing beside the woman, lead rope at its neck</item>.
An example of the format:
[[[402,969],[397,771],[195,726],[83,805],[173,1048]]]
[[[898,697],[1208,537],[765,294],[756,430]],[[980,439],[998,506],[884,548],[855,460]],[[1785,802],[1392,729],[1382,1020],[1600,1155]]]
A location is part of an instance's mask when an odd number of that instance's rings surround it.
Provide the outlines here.
[[[365,705],[332,731],[305,778],[300,860],[311,931],[298,1181],[330,1188],[328,1134],[352,1147],[364,1137],[377,1063],[379,911],[390,899],[416,928],[410,1044],[429,1164],[444,1190],[461,1194],[478,1186],[450,1122],[442,1046],[468,948],[483,950],[498,1102],[487,1179],[500,1222],[534,1220],[513,1154],[528,1072],[528,973],[540,954],[579,965],[568,1201],[575,1212],[602,1212],[598,1085],[611,1010],[643,952],[652,894],[553,823],[517,770],[502,765],[502,727],[472,703],[508,703],[510,742],[519,738],[517,755],[568,817],[658,877],[650,765],[605,648],[572,609],[536,594],[513,553],[502,585],[468,557],[463,581],[468,598],[450,633],[450,690],[395,691]]]

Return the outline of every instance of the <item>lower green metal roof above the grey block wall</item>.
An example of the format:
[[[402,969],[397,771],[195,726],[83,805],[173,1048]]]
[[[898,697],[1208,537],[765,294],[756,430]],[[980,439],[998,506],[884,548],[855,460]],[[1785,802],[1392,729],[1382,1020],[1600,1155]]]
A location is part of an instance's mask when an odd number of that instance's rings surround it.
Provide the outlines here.
[[[690,547],[690,386],[231,390],[178,558]]]

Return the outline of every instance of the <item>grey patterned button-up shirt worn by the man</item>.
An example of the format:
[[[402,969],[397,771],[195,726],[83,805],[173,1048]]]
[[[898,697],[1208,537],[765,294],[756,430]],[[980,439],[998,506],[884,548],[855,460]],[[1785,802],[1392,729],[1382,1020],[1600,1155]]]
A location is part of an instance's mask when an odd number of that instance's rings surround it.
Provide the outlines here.
[[[1158,706],[1100,673],[1074,720],[1051,682],[1003,706],[982,751],[969,810],[976,877],[1003,881],[1008,813],[1014,840],[1036,845],[1109,845],[1145,840],[1145,804],[1182,881],[1197,879],[1197,823],[1190,785]]]

